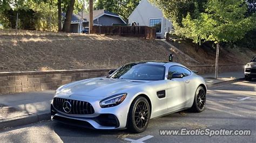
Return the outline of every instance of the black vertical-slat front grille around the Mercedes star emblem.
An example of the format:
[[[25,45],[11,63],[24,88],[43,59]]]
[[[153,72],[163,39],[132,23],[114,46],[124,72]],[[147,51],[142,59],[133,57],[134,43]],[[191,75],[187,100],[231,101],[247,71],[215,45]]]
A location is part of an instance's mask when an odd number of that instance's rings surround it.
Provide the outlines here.
[[[53,98],[53,106],[64,113],[67,113],[63,109],[63,103],[68,101],[71,104],[71,111],[68,114],[73,115],[90,115],[93,114],[95,111],[92,105],[88,102],[84,101],[76,101],[72,99],[64,99],[64,98]]]

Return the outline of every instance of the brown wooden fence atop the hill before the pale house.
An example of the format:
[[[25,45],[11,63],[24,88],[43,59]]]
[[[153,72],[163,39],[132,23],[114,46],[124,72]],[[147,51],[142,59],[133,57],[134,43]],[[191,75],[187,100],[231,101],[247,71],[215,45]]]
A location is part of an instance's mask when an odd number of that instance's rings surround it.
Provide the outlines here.
[[[93,26],[92,33],[156,39],[156,29],[148,26]]]

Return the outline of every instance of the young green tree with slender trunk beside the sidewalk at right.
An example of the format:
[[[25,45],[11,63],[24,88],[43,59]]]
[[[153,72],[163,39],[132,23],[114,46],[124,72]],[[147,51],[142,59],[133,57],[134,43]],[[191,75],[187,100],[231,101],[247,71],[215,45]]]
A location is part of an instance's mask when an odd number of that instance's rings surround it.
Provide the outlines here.
[[[193,42],[213,41],[217,45],[215,78],[218,78],[219,44],[235,42],[255,28],[255,17],[246,17],[247,5],[241,0],[209,0],[205,12],[183,19],[185,37]]]

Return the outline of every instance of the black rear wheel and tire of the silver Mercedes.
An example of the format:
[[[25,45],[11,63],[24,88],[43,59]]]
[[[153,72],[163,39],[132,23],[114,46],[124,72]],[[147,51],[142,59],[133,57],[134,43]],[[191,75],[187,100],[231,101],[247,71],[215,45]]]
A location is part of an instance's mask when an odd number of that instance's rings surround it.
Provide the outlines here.
[[[206,104],[206,91],[203,87],[199,86],[194,95],[194,102],[191,107],[191,111],[197,112],[197,113],[202,112],[205,110],[205,104]]]

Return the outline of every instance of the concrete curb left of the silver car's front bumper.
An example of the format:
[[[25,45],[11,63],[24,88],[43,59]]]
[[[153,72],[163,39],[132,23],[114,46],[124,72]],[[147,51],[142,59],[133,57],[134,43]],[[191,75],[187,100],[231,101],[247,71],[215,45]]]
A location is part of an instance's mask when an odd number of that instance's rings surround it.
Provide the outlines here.
[[[42,114],[33,114],[30,113],[29,115],[18,116],[14,118],[8,118],[0,120],[0,130],[6,127],[16,127],[22,125],[28,125],[32,123],[36,123],[42,120],[49,120],[51,119],[51,113],[42,113]]]

